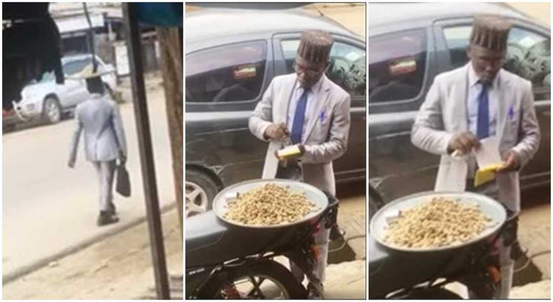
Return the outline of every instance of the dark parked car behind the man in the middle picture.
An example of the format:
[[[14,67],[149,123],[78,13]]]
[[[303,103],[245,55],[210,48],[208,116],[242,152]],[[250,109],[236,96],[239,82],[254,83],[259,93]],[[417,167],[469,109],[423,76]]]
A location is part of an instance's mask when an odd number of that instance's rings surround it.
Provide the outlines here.
[[[214,26],[216,24],[216,26]],[[290,74],[300,33],[335,39],[326,72],[351,94],[347,153],[334,162],[340,182],[366,178],[366,43],[304,9],[201,9],[186,14],[186,212],[211,208],[225,186],[262,175],[268,144],[248,118],[273,77]]]

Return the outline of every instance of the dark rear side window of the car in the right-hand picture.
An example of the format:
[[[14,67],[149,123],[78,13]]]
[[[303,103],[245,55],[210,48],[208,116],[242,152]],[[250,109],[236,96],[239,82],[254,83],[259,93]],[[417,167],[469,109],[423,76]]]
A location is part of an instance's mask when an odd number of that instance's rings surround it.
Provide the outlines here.
[[[369,39],[369,103],[418,96],[424,84],[426,51],[425,29]]]

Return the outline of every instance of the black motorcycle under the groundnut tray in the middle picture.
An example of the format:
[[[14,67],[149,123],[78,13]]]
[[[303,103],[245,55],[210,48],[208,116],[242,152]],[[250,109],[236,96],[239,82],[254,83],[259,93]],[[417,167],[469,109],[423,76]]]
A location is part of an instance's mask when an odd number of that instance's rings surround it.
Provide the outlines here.
[[[224,196],[227,189],[217,196]],[[317,227],[336,225],[338,209],[334,196],[327,192],[324,196],[326,207],[320,215],[283,227],[232,225],[217,215],[218,197],[215,210],[187,218],[186,299],[305,299],[311,288],[322,294],[321,280],[312,273],[319,253],[313,235]],[[302,270],[307,287],[278,262],[283,259],[279,256]]]

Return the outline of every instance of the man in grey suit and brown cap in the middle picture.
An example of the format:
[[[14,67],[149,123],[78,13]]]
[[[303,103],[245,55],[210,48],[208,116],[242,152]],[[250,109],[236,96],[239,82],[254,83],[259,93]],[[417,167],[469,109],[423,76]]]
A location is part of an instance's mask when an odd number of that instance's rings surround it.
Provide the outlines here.
[[[324,73],[332,44],[330,34],[320,30],[302,33],[295,73],[275,77],[255,107],[249,129],[254,136],[269,142],[264,179],[289,177],[275,156],[289,140],[299,146],[301,154],[288,166],[297,165],[305,183],[336,194],[332,161],[346,152],[350,117],[349,94]],[[315,235],[321,253],[314,273],[321,281],[325,276],[329,233],[321,227]],[[294,264],[291,268],[297,279],[304,278]]]

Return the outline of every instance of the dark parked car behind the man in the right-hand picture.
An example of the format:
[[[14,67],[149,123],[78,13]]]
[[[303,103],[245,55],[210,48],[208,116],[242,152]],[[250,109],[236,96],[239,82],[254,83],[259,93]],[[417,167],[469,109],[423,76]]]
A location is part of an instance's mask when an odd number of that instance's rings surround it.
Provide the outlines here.
[[[412,14],[411,12],[416,12]],[[434,189],[439,157],[410,141],[414,118],[434,77],[468,62],[475,14],[513,23],[504,68],[533,83],[541,144],[521,171],[523,190],[550,184],[550,27],[504,4],[371,3],[369,22],[369,209]],[[374,212],[374,211],[373,211]]]

